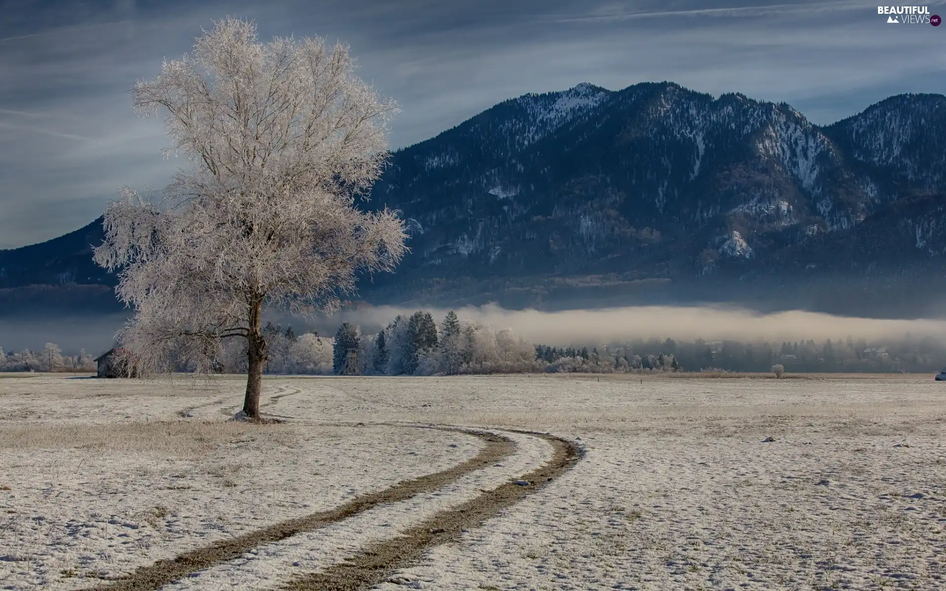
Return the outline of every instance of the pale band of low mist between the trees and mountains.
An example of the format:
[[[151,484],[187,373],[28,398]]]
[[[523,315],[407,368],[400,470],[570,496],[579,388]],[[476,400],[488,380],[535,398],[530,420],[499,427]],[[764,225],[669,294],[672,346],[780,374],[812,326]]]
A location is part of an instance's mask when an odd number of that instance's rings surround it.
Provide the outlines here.
[[[409,315],[417,307],[361,306],[346,308],[332,316],[313,321],[271,313],[273,323],[296,332],[315,329],[330,337],[339,324],[352,322],[363,334],[375,333],[398,314]],[[423,309],[440,322],[447,308]],[[518,336],[550,345],[600,344],[626,339],[706,339],[761,340],[798,339],[946,339],[946,321],[881,320],[787,311],[760,314],[744,308],[697,306],[628,306],[620,308],[565,310],[509,310],[497,305],[466,306],[456,309],[461,319],[472,320],[493,329],[511,328]],[[40,350],[44,343],[59,344],[63,351],[100,353],[112,345],[114,333],[125,321],[124,314],[82,317],[32,317],[0,320],[0,347],[7,352],[25,348]]]

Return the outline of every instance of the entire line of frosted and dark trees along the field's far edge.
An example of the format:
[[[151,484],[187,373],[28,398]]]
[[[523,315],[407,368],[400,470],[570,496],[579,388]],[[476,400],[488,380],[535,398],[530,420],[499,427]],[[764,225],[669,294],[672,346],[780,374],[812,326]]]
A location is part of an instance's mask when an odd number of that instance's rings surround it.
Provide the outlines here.
[[[362,334],[343,322],[334,337],[317,332],[296,334],[269,322],[266,374],[342,374],[352,357],[359,374],[432,375],[497,373],[654,373],[679,371],[788,373],[926,373],[946,366],[946,343],[929,337],[870,340],[814,339],[741,341],[706,339],[626,339],[598,344],[532,343],[510,329],[493,330],[460,319],[450,311],[437,322],[426,311],[397,316],[382,330]],[[118,346],[118,345],[116,345]],[[246,340],[221,343],[214,356],[215,373],[246,374]],[[354,356],[351,354],[354,353]],[[183,362],[176,371],[194,368]],[[3,372],[94,372],[93,356],[84,349],[63,355],[55,343],[41,351],[4,354]]]

